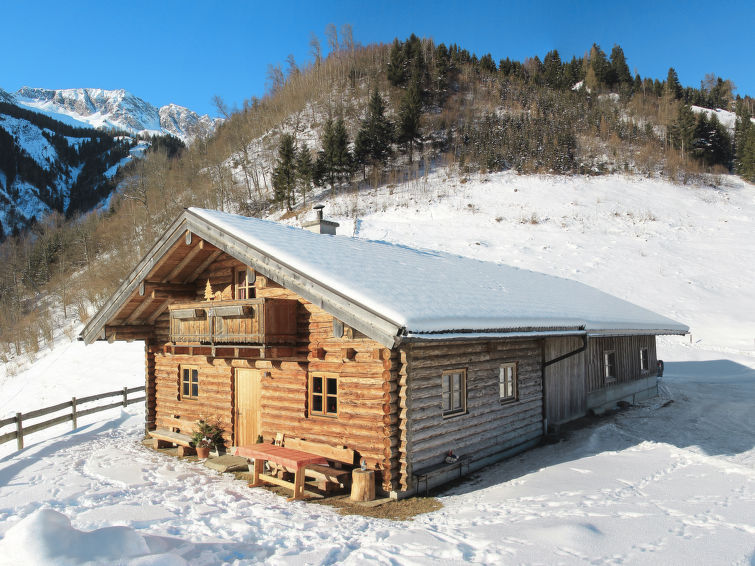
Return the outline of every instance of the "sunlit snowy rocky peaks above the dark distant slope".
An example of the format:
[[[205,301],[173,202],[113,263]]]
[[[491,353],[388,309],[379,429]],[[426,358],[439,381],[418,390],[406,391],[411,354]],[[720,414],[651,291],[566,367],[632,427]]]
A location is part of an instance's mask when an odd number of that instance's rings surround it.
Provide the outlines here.
[[[175,104],[157,108],[123,89],[23,87],[15,92],[14,98],[19,106],[74,126],[132,134],[171,134],[186,143],[212,133],[221,121]]]

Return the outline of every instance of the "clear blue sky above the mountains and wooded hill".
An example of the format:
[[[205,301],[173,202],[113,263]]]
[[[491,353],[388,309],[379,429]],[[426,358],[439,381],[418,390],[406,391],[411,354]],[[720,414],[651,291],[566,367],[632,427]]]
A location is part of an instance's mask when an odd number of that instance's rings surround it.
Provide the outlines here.
[[[351,24],[362,44],[411,33],[471,52],[562,59],[593,42],[624,49],[630,69],[683,85],[706,73],[755,95],[755,2],[77,2],[0,0],[0,88],[125,88],[155,105],[216,114],[265,93],[267,67],[309,59],[310,33]]]

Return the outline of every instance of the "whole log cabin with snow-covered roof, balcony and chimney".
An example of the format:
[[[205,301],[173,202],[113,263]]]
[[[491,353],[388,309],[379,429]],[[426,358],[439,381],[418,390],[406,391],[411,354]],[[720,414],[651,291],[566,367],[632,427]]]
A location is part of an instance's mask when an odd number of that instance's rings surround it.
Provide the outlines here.
[[[87,343],[144,341],[147,430],[348,447],[400,498],[656,395],[656,336],[688,331],[575,281],[332,235],[319,212],[304,230],[189,208],[88,322]]]

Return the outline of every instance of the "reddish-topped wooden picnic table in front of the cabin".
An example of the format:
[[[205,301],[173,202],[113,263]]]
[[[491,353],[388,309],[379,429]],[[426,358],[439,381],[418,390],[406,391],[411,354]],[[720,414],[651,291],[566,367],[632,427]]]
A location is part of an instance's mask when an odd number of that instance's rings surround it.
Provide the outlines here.
[[[280,485],[293,490],[293,499],[304,498],[304,470],[307,466],[327,465],[328,461],[317,454],[310,454],[302,450],[294,450],[274,444],[255,444],[254,446],[238,446],[236,456],[254,459],[254,476],[249,487],[257,487],[264,482]],[[275,476],[262,473],[266,461],[275,462],[281,466],[294,470],[294,482],[285,481]]]

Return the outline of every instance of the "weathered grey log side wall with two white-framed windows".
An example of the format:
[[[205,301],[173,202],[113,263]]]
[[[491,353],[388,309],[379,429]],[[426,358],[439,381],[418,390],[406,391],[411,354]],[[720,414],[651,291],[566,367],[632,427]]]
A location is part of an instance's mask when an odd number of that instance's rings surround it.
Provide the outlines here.
[[[540,340],[427,341],[402,348],[400,384],[406,382],[408,391],[400,399],[401,487],[409,487],[414,470],[441,463],[449,450],[481,460],[541,436],[541,357]],[[501,403],[498,372],[506,362],[517,363],[518,399]],[[441,375],[451,369],[466,369],[467,410],[444,418]]]

